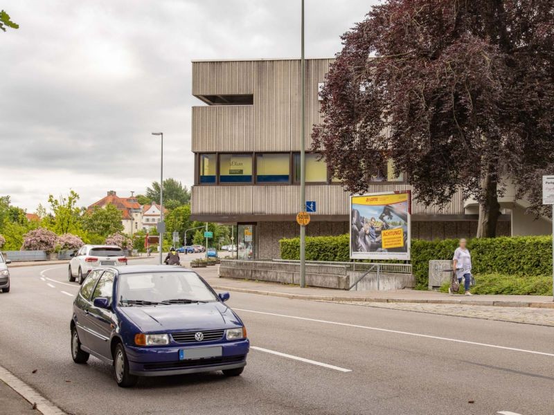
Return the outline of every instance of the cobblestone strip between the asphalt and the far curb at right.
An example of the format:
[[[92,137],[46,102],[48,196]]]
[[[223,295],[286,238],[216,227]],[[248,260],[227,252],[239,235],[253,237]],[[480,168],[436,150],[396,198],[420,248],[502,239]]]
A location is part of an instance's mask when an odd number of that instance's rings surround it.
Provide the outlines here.
[[[456,317],[481,318],[484,320],[499,320],[539,326],[554,327],[554,309],[521,308],[499,306],[464,306],[462,304],[417,304],[417,303],[382,303],[339,301],[340,304],[357,306],[391,308],[394,310],[413,311],[416,313],[431,313],[454,315]]]

